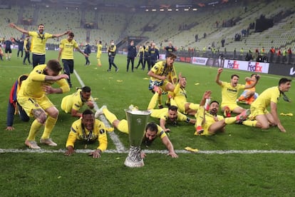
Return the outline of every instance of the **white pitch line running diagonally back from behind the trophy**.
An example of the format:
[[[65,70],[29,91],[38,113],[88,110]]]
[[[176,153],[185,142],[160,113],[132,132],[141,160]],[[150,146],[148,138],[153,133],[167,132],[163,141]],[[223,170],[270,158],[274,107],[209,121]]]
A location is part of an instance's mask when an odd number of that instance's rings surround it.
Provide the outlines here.
[[[85,86],[85,84],[83,83],[81,77],[78,75],[78,73],[76,72],[75,69],[73,70],[73,73],[76,75],[76,77],[77,77],[79,83],[81,84],[81,86]],[[98,109],[99,109],[98,104],[94,101],[92,96],[91,96],[91,99],[93,101],[95,111],[98,111]],[[110,126],[110,123],[108,123],[108,120],[105,118],[104,115],[100,115],[99,118],[100,118],[100,121],[103,121],[103,123],[105,124],[106,127],[112,127],[112,126]],[[117,134],[115,134],[115,132],[108,132],[108,134],[109,134],[110,138],[113,140],[113,143],[115,144],[115,147],[117,148],[117,151],[119,151],[119,152],[125,151],[125,146],[120,141]]]

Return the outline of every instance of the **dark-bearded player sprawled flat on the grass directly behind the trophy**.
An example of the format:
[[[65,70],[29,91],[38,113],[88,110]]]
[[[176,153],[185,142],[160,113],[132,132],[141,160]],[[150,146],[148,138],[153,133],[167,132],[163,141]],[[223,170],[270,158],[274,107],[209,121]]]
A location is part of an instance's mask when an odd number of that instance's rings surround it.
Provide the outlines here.
[[[95,117],[104,114],[105,118],[108,119],[110,123],[113,124],[115,128],[117,128],[119,131],[123,133],[129,133],[128,130],[128,121],[125,119],[118,120],[118,118],[115,116],[115,114],[108,111],[108,108],[106,106],[102,106],[98,111],[95,113]],[[170,139],[167,137],[165,131],[162,130],[160,126],[158,126],[156,123],[148,123],[145,127],[145,135],[143,137],[143,144],[145,146],[150,146],[152,141],[155,140],[155,138],[160,137],[162,140],[162,143],[166,146],[169,153],[167,155],[171,156],[172,158],[177,158],[177,154],[174,151],[173,145],[170,141]],[[140,154],[142,158],[145,158],[145,153],[142,151]]]

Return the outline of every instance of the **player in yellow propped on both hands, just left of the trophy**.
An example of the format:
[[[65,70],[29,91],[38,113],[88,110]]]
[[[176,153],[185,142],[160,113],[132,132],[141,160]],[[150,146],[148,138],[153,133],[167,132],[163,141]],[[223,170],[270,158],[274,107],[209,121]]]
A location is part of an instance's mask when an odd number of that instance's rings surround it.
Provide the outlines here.
[[[93,158],[100,158],[101,153],[108,147],[105,124],[95,119],[90,109],[83,111],[82,118],[73,122],[66,141],[66,148],[68,149],[65,153],[66,156],[71,156],[75,152],[74,144],[76,140],[82,140],[86,143],[93,143],[98,140],[98,148],[89,153]]]

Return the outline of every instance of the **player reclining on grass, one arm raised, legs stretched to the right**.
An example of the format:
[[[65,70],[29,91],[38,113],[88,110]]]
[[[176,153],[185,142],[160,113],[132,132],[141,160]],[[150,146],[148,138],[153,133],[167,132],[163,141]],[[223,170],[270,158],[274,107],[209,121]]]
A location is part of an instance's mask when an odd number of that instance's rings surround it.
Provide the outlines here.
[[[224,126],[232,123],[242,123],[247,116],[249,116],[249,110],[243,111],[236,117],[223,118],[223,116],[217,115],[219,103],[217,101],[211,101],[209,111],[205,111],[204,105],[206,98],[210,98],[211,91],[205,91],[203,98],[200,102],[200,107],[195,114],[195,135],[211,136],[215,133],[224,132]]]

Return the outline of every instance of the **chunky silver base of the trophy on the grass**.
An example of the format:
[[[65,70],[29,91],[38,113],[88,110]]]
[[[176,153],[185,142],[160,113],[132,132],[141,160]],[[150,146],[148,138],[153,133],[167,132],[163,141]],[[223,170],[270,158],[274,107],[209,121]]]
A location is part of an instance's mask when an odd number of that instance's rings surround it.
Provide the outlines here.
[[[130,168],[145,166],[143,158],[140,156],[140,147],[130,146],[128,157],[125,159],[124,165]]]

